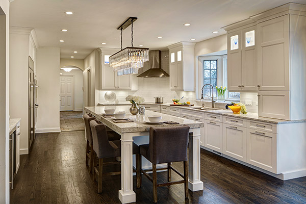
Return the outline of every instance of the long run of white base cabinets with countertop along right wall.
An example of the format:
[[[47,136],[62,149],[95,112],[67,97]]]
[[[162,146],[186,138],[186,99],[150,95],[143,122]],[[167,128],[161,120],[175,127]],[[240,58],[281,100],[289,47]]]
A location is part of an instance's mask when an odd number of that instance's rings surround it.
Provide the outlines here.
[[[195,107],[197,108],[197,107]],[[201,147],[281,180],[306,176],[306,120],[286,121],[161,105],[161,112],[205,124]]]

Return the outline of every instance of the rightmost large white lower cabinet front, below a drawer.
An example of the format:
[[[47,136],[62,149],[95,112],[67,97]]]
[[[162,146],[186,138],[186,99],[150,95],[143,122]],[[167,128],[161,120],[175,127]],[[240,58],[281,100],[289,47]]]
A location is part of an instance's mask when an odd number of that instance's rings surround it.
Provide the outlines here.
[[[246,162],[267,171],[277,173],[277,135],[264,131],[247,129]]]

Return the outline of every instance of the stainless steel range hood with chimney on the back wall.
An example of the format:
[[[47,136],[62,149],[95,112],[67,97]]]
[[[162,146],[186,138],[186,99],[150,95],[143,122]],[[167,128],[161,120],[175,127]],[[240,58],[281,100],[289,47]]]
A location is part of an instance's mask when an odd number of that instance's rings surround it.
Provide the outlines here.
[[[150,50],[149,52],[150,68],[139,74],[137,77],[142,78],[164,78],[169,77],[162,67],[162,52],[161,50]]]

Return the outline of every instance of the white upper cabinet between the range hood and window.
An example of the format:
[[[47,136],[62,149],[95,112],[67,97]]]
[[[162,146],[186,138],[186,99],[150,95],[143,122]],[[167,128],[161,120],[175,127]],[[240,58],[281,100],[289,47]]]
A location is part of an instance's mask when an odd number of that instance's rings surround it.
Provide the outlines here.
[[[194,42],[168,46],[170,56],[170,89],[194,91]]]

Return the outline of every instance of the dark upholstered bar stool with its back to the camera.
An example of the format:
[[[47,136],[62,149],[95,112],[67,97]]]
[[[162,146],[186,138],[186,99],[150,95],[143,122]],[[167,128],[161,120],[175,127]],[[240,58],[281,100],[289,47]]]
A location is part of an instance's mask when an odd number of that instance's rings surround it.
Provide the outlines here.
[[[140,145],[140,155],[152,163],[152,177],[143,169],[141,172],[153,183],[154,202],[157,202],[157,187],[173,184],[185,185],[185,197],[188,198],[188,137],[190,127],[150,127],[149,144]],[[184,163],[184,175],[171,166],[171,162]],[[157,184],[157,164],[167,163],[168,182]],[[165,168],[162,168],[165,169]],[[183,177],[183,180],[171,182],[171,170]],[[140,181],[141,183],[141,181]],[[141,184],[140,184],[141,185]]]

